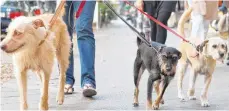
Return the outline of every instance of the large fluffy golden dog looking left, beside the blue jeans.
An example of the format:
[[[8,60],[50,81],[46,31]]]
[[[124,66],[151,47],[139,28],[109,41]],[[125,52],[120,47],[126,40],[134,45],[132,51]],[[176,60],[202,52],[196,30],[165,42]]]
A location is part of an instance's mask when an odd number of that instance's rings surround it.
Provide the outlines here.
[[[20,92],[20,108],[27,105],[27,70],[37,72],[42,82],[39,109],[48,110],[49,80],[57,57],[60,69],[58,104],[64,101],[65,72],[69,65],[70,37],[61,17],[47,30],[52,14],[36,17],[18,17],[8,27],[8,34],[1,42],[1,49],[12,54]],[[45,38],[47,35],[47,38]],[[42,41],[45,40],[43,43]]]

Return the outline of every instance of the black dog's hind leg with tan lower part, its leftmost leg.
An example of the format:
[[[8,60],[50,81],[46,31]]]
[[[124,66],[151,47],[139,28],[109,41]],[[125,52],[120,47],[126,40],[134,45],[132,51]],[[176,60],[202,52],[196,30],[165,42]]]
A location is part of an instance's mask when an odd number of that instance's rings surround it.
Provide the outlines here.
[[[134,62],[134,85],[135,85],[135,90],[134,90],[134,107],[138,106],[138,94],[139,94],[139,82],[141,79],[142,74],[145,71],[145,66],[142,63],[142,60],[140,58],[140,55],[137,55],[135,62]]]

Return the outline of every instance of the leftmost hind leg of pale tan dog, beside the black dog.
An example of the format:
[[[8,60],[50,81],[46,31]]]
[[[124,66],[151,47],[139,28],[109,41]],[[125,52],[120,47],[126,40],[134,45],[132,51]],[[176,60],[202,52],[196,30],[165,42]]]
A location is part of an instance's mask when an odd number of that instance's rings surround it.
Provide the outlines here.
[[[186,62],[186,59],[183,59],[182,57],[179,60],[179,63],[177,65],[177,90],[178,90],[178,98],[180,98],[181,101],[184,100],[183,79],[184,79],[187,67],[188,67],[188,63]]]

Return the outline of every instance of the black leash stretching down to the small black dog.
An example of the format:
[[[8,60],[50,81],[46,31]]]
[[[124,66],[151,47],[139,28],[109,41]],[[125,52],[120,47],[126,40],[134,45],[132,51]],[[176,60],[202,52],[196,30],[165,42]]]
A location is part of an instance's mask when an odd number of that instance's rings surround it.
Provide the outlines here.
[[[149,41],[146,40],[146,38],[144,37],[144,35],[142,35],[140,32],[137,31],[137,29],[135,29],[132,25],[130,25],[127,21],[125,21],[124,18],[122,18],[115,10],[114,8],[110,5],[109,2],[107,1],[103,1],[104,4],[112,11],[114,12],[115,15],[117,15],[126,25],[128,25],[130,27],[131,30],[133,30],[136,34],[137,37],[140,38],[145,44],[147,44],[149,47],[151,47],[151,43]],[[155,49],[156,50],[156,49]],[[157,50],[156,50],[157,51]]]

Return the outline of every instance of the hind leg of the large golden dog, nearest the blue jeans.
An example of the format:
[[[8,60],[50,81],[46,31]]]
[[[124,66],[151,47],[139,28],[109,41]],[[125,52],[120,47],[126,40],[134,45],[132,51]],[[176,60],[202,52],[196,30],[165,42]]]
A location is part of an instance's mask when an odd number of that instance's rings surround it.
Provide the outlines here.
[[[59,89],[56,97],[56,101],[59,105],[63,104],[64,102],[64,85],[66,81],[66,71],[69,65],[70,45],[70,37],[68,36],[68,32],[61,32],[59,46],[57,47],[56,51],[60,72]]]

